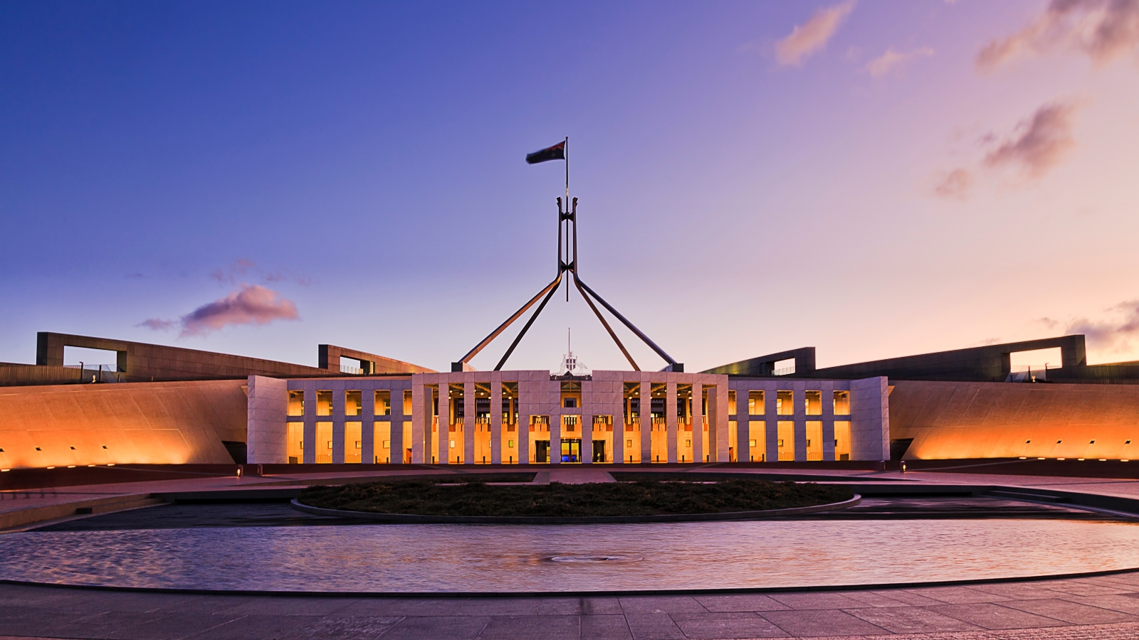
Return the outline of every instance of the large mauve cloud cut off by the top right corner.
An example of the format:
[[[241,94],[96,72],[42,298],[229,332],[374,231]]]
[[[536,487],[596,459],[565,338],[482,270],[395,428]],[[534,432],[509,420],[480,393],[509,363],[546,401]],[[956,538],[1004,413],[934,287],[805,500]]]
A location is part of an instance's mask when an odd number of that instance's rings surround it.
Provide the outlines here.
[[[1027,26],[977,52],[977,68],[992,72],[1019,57],[1080,51],[1107,64],[1139,49],[1139,0],[1052,0]]]

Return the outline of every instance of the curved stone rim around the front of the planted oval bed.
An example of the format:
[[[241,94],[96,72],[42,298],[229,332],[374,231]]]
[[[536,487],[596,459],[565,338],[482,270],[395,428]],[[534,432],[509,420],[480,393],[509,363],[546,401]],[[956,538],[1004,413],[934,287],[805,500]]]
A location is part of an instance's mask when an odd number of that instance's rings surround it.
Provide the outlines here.
[[[593,524],[639,524],[639,523],[707,523],[730,520],[759,520],[781,516],[798,516],[835,511],[853,507],[862,501],[858,493],[850,500],[813,504],[811,507],[790,507],[787,509],[765,509],[760,511],[726,511],[723,514],[661,514],[652,516],[419,516],[412,514],[379,514],[369,511],[349,511],[344,509],[325,509],[304,504],[300,499],[292,500],[297,511],[317,516],[353,518],[379,524],[473,524],[473,525],[593,525]]]

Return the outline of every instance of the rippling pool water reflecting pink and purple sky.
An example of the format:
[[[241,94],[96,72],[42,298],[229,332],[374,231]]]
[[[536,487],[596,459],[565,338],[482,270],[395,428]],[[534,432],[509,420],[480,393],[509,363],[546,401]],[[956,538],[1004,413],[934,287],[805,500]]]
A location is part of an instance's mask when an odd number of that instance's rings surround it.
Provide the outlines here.
[[[1132,567],[1139,567],[1139,525],[1096,520],[367,525],[0,535],[2,579],[218,590],[762,589]]]

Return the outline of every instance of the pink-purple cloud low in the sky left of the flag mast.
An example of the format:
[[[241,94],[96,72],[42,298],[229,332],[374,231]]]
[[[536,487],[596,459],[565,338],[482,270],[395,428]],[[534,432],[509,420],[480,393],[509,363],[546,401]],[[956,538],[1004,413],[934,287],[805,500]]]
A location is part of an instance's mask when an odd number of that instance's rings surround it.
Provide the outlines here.
[[[296,304],[272,289],[245,285],[228,296],[204,304],[182,315],[177,322],[151,318],[139,327],[170,330],[181,327],[179,337],[197,336],[235,325],[268,325],[274,320],[298,320]]]

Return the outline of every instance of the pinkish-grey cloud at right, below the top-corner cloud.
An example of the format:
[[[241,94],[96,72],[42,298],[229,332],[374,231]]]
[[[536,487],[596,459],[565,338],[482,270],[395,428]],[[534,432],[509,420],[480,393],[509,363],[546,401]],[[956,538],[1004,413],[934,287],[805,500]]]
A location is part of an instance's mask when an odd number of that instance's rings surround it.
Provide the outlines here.
[[[1017,125],[999,147],[985,155],[986,166],[1013,165],[1032,178],[1047,173],[1075,147],[1072,134],[1076,106],[1051,102]]]

